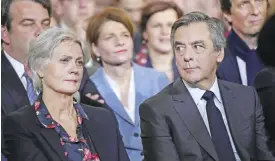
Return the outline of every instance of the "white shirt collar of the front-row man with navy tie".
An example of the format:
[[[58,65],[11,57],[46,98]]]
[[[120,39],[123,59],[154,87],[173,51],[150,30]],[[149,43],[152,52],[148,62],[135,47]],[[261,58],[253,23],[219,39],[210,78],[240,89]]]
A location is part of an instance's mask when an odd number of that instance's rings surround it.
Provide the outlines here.
[[[192,86],[191,84],[187,83],[186,81],[183,80],[183,83],[185,84],[187,90],[189,91],[191,97],[193,98],[194,102],[196,105],[198,105],[199,101],[202,99],[203,94],[206,92],[206,90],[197,88],[195,86]],[[216,99],[222,103],[221,99],[221,94],[220,94],[220,89],[218,85],[218,80],[217,78],[215,79],[214,84],[211,86],[209,91],[213,92],[215,94]]]

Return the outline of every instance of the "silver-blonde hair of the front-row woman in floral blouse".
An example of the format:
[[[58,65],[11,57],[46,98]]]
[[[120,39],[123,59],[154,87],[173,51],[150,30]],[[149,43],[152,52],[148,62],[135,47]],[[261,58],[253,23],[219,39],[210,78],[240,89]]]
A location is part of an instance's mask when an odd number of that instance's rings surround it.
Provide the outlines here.
[[[32,73],[33,86],[37,92],[42,92],[42,80],[37,71],[44,70],[53,56],[53,51],[63,41],[72,41],[80,45],[84,63],[89,60],[90,49],[87,43],[80,41],[72,32],[53,27],[43,31],[36,39],[31,41],[28,53],[28,67]]]

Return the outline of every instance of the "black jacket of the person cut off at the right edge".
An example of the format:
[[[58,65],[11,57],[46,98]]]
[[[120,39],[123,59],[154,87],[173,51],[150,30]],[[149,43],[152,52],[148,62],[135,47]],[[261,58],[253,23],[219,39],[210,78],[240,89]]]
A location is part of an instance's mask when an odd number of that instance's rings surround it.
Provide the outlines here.
[[[255,88],[263,105],[265,123],[275,142],[275,68],[264,68],[255,79]]]

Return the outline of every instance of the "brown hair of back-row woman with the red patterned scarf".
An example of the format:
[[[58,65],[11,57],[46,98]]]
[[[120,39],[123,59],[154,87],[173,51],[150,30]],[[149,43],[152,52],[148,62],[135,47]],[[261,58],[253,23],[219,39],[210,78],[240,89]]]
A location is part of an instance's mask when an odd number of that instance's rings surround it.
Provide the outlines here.
[[[145,6],[142,9],[142,18],[140,23],[141,33],[146,30],[146,25],[152,15],[161,11],[165,11],[167,9],[175,10],[178,18],[180,18],[183,15],[182,10],[173,2],[157,1],[149,3],[147,6]]]

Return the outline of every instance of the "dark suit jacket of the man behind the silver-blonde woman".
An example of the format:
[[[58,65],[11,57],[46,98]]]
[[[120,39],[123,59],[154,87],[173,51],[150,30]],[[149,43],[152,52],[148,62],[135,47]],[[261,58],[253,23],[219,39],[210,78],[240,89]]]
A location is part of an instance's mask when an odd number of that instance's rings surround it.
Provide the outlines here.
[[[6,58],[3,51],[1,53],[1,59],[1,115],[3,117],[21,107],[30,105],[30,103],[27,92],[21,80],[18,78],[15,70],[13,69],[9,60]],[[81,102],[93,106],[102,106],[101,104],[97,103],[97,101],[87,99],[85,96],[87,93],[98,94],[94,83],[89,80],[86,69],[84,69],[79,93],[81,95]]]

